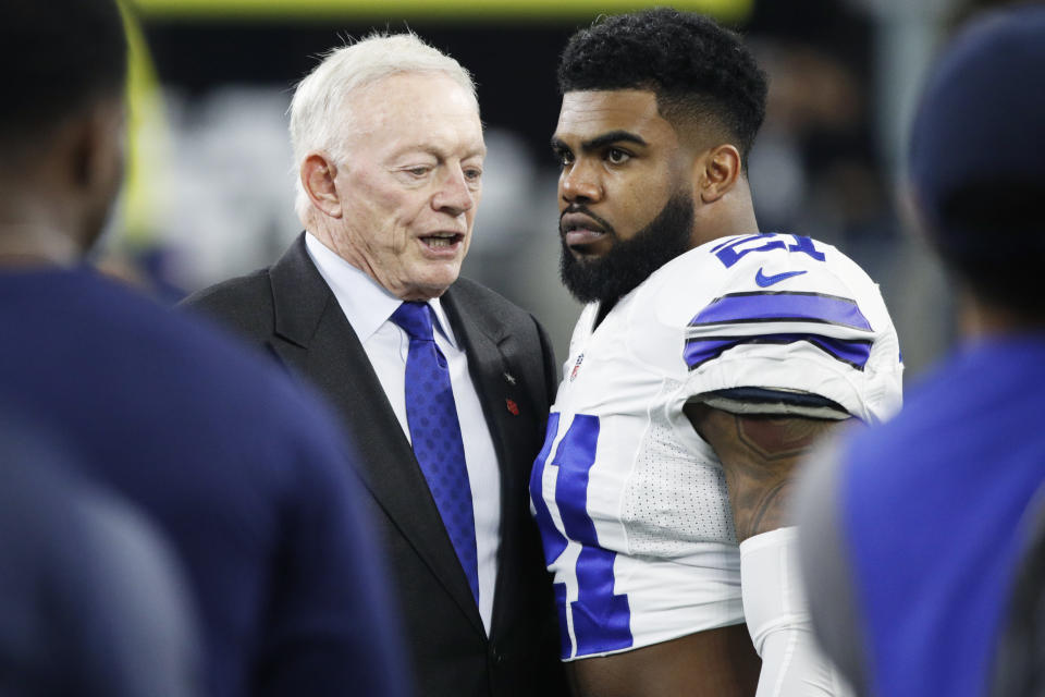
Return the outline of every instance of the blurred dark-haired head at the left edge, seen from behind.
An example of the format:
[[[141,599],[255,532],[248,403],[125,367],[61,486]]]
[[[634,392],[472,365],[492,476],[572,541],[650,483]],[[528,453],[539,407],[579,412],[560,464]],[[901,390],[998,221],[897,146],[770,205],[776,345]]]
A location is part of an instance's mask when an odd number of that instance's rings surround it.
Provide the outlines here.
[[[120,188],[127,42],[112,0],[8,0],[0,57],[0,260],[70,262]]]

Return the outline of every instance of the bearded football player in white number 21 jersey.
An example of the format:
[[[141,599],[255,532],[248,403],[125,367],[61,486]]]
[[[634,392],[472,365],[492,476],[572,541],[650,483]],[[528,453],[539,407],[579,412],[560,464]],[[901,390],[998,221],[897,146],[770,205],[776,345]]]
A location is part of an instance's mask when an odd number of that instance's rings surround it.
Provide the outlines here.
[[[558,78],[562,276],[589,305],[531,492],[562,658],[585,697],[838,694],[784,504],[816,438],[899,407],[885,304],[831,245],[759,232],[739,37],[608,17]]]

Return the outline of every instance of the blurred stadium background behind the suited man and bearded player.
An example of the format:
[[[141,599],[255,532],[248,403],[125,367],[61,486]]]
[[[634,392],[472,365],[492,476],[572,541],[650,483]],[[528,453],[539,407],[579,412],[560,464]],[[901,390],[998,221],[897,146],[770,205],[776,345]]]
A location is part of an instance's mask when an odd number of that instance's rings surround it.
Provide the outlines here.
[[[532,311],[565,359],[557,56],[618,0],[131,0],[128,179],[99,252],[164,302],[274,261],[297,235],[286,109],[317,56],[410,28],[472,72],[489,157],[464,273]],[[771,77],[750,161],[762,231],[829,242],[878,281],[908,376],[950,343],[954,289],[905,220],[900,164],[925,69],[967,0],[690,0]]]

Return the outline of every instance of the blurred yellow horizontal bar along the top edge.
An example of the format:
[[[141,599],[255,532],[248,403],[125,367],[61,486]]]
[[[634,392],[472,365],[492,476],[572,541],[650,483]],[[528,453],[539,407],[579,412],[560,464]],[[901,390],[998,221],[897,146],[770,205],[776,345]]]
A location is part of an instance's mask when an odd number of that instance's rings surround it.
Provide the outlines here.
[[[152,19],[392,19],[472,21],[527,19],[589,20],[647,7],[671,4],[740,22],[754,0],[135,0],[146,20]]]

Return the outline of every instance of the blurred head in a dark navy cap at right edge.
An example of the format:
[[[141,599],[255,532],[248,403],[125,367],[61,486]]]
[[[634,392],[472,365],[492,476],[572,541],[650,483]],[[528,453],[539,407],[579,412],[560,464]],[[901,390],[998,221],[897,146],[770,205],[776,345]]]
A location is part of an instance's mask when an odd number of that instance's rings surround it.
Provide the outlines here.
[[[967,290],[966,331],[1041,325],[1045,7],[983,15],[935,69],[911,132],[921,227]]]

